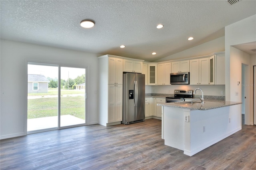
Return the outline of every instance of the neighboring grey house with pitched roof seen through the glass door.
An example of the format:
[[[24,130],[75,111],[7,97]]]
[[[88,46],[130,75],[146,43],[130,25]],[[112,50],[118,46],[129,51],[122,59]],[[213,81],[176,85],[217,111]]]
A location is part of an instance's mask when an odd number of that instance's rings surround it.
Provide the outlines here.
[[[28,93],[48,93],[49,82],[44,75],[28,74]]]

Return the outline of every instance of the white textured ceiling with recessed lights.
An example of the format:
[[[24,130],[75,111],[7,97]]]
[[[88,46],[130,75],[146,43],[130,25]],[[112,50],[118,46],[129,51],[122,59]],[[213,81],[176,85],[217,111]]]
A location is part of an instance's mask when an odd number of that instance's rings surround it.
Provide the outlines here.
[[[1,39],[146,61],[224,36],[225,26],[256,14],[256,0],[234,5],[226,0],[1,0],[0,5]],[[95,26],[80,27],[85,19]],[[194,40],[188,41],[190,36]]]

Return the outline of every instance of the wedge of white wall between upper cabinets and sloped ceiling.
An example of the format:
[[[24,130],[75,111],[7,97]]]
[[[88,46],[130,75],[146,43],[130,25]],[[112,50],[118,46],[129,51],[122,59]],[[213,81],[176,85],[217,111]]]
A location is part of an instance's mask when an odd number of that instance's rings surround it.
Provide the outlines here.
[[[209,55],[214,52],[225,51],[225,37],[220,37],[215,40],[197,45],[195,47],[186,49],[179,53],[170,55],[168,57],[164,57],[162,59],[156,60],[154,62],[160,61],[168,61],[173,59],[183,59],[183,58],[190,58],[190,57],[199,57],[204,55]]]

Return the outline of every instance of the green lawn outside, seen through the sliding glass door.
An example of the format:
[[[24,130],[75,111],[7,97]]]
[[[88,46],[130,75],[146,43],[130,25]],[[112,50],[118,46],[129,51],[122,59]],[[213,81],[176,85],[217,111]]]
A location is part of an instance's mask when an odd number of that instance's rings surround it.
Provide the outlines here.
[[[72,91],[72,93],[67,92],[68,94],[78,94],[78,93],[74,93],[74,90],[64,90],[64,91],[65,93],[67,91],[68,92]],[[43,93],[40,93],[37,95],[41,96],[42,94]],[[45,94],[48,94],[48,93],[45,93]],[[61,101],[61,109],[60,109],[61,115],[73,115],[80,119],[85,119],[84,96],[61,97],[60,101]],[[57,116],[57,115],[58,115],[58,98],[50,97],[50,98],[28,99],[28,119],[40,118],[40,117],[51,117],[51,116]]]

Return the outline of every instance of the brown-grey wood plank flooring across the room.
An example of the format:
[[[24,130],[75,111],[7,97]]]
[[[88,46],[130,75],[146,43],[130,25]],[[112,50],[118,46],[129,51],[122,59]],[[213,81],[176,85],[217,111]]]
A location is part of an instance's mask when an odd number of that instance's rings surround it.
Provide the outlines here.
[[[256,126],[187,156],[164,145],[161,121],[83,127],[0,141],[1,170],[255,170]]]

